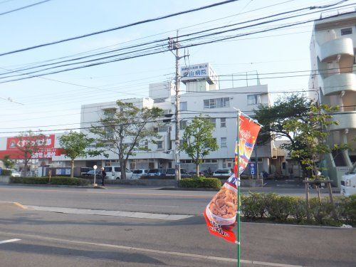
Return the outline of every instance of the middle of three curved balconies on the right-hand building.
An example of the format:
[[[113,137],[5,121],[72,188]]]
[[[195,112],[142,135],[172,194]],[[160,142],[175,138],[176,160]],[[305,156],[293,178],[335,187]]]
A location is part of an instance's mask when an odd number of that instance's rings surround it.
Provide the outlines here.
[[[342,90],[356,91],[356,75],[354,73],[340,73],[325,78],[324,95],[337,95]]]

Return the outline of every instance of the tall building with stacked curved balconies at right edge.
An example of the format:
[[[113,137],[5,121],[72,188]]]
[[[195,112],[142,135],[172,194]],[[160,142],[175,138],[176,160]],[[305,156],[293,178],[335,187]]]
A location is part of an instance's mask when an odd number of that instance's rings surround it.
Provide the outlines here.
[[[344,12],[344,13],[342,13]],[[328,129],[328,144],[348,144],[352,150],[335,151],[323,159],[324,174],[340,186],[340,177],[356,161],[356,12],[322,14],[315,21],[310,41],[310,98],[340,106],[339,122]]]

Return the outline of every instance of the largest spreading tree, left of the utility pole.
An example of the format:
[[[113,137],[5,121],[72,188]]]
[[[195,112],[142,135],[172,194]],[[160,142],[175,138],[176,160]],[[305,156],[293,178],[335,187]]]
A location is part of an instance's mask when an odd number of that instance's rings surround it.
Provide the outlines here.
[[[119,157],[121,179],[126,179],[126,165],[135,151],[148,151],[149,140],[159,137],[152,127],[164,114],[160,108],[137,108],[132,103],[117,100],[116,107],[105,110],[105,118],[98,125],[92,125],[90,132],[97,136],[97,147],[104,147]]]

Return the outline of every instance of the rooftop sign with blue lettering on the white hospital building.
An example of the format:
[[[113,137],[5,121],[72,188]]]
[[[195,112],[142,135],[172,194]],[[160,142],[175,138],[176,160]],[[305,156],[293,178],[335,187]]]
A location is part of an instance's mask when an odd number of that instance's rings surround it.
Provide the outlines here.
[[[201,80],[206,79],[208,83],[216,83],[217,75],[209,63],[202,63],[192,66],[184,66],[180,68],[182,82],[184,80]]]

